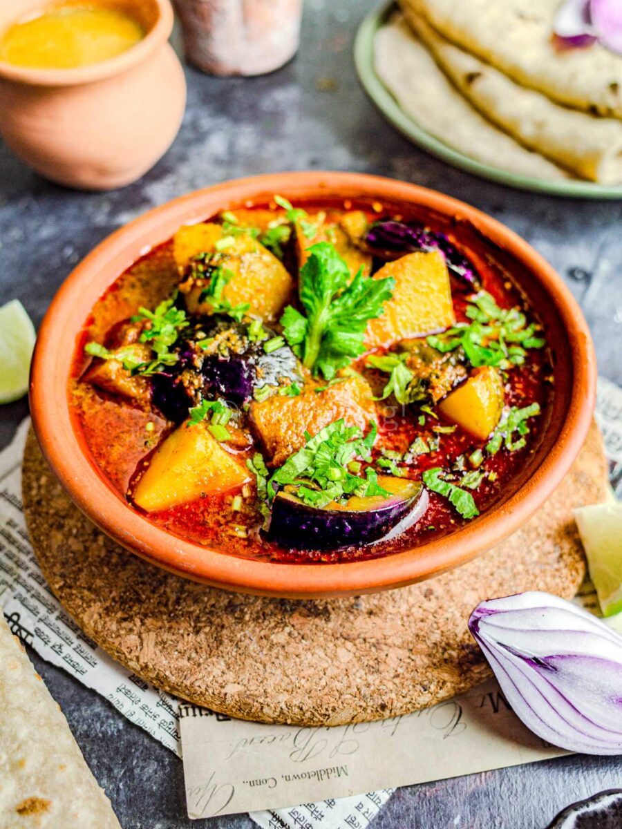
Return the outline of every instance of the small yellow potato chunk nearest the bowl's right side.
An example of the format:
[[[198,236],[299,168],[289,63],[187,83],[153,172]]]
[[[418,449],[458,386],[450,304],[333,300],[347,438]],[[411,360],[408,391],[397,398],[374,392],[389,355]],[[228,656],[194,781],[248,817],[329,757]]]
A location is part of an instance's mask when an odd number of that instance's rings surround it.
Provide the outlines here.
[[[475,438],[485,440],[503,412],[503,381],[496,368],[477,368],[438,408]]]

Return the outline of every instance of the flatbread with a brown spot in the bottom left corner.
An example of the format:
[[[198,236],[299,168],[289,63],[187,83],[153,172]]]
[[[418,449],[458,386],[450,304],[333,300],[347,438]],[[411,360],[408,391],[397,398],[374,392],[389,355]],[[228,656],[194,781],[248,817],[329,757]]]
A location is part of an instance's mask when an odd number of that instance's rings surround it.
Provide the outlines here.
[[[0,610],[0,827],[121,829]]]

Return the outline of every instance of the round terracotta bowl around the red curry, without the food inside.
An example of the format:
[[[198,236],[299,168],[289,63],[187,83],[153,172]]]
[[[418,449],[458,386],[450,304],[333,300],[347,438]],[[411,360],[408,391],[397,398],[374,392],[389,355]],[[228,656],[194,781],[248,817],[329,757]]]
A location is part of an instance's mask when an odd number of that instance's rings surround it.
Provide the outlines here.
[[[180,225],[236,206],[344,199],[407,213],[425,211],[476,235],[531,298],[547,328],[556,392],[542,439],[507,495],[454,534],[415,549],[340,564],[246,560],[183,541],[154,526],[119,497],[91,464],[67,397],[76,337],[114,280]],[[104,240],[66,279],[41,325],[32,363],[32,418],[41,448],[75,504],[121,545],[155,565],[223,589],[294,598],[359,594],[428,579],[489,550],[522,526],[566,475],[587,434],[595,402],[595,356],[580,308],[552,267],[511,230],[473,207],[411,184],[340,172],[280,173],[208,187],[148,212]]]

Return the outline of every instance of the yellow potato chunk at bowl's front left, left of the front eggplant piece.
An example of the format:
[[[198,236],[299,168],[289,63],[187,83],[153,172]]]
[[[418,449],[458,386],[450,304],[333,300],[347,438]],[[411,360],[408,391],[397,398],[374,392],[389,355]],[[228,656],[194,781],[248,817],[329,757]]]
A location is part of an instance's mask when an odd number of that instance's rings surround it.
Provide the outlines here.
[[[178,426],[158,446],[134,492],[143,510],[166,510],[241,487],[248,470],[213,438],[204,422]]]

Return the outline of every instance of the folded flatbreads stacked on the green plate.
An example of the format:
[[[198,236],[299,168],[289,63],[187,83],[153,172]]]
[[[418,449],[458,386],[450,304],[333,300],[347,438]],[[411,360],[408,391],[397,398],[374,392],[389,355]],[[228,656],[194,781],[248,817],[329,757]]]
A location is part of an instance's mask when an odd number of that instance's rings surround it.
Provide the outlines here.
[[[375,66],[420,127],[542,179],[622,182],[622,56],[553,40],[562,0],[400,0]]]

